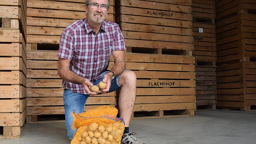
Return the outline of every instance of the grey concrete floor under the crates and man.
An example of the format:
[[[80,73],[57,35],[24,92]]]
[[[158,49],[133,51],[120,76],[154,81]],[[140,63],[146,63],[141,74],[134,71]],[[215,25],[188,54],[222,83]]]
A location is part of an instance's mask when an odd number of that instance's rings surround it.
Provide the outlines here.
[[[255,144],[256,111],[197,111],[193,117],[132,120],[147,144]],[[26,124],[19,139],[0,144],[68,144],[65,123]]]

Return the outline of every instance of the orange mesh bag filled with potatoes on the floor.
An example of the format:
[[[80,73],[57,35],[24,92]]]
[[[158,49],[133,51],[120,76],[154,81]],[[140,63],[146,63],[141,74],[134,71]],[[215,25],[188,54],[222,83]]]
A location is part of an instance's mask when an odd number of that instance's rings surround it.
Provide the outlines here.
[[[80,114],[73,112],[73,129],[77,129],[71,144],[120,144],[124,131],[118,110],[101,106]]]

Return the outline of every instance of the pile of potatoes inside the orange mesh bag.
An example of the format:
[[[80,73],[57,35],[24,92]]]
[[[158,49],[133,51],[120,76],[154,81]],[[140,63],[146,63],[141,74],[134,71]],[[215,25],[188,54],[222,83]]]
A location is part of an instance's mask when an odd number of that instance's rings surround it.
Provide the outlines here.
[[[91,123],[81,135],[80,144],[120,144],[124,125],[120,122],[101,126]]]

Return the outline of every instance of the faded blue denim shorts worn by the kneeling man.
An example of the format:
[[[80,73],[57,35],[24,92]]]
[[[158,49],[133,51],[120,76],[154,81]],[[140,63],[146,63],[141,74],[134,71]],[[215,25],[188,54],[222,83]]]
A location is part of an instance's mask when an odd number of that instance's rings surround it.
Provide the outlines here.
[[[126,71],[126,70],[124,70],[124,71]],[[93,81],[93,84],[97,85],[100,81],[102,81],[103,76],[106,72],[107,71],[102,73],[102,78],[101,79],[99,79],[97,81]],[[118,84],[118,80],[120,78],[120,75],[118,75],[117,77],[115,77],[111,81],[111,86],[110,86],[110,89],[109,89],[108,93],[116,91],[116,90],[121,88],[121,86]],[[77,130],[77,129],[75,129],[75,130],[72,129],[72,123],[74,121],[74,117],[71,115],[71,113],[74,110],[75,110],[76,113],[83,112],[84,111],[84,105],[85,105],[85,102],[86,102],[88,97],[89,97],[89,95],[87,95],[87,94],[74,93],[74,92],[72,92],[68,89],[64,89],[63,99],[64,99],[64,108],[65,108],[65,119],[66,119],[68,138],[70,140],[73,139],[73,136],[74,136],[74,134]]]

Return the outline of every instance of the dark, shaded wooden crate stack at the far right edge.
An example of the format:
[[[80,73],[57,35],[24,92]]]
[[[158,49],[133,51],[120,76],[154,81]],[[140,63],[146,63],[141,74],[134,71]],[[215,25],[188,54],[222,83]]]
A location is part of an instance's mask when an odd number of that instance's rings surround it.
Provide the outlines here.
[[[256,107],[256,1],[216,0],[217,107]]]

